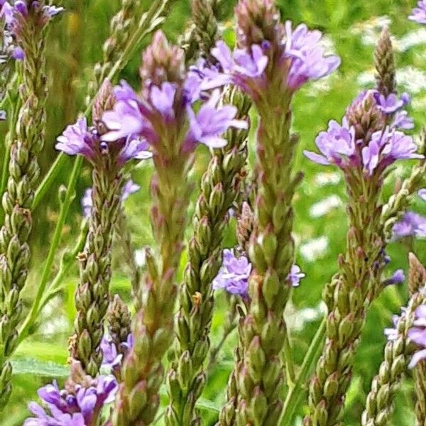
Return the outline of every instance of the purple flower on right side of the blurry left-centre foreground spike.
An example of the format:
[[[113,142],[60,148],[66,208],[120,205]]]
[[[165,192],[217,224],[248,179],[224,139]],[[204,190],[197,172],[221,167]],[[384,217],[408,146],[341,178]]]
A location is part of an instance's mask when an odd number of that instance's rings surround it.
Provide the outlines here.
[[[209,101],[202,105],[197,114],[191,107],[187,113],[190,119],[190,131],[186,143],[192,146],[196,141],[204,143],[209,148],[222,148],[227,141],[222,137],[223,133],[230,127],[236,129],[247,129],[249,124],[244,120],[236,120],[238,109],[228,105],[217,107],[221,95],[215,90]]]

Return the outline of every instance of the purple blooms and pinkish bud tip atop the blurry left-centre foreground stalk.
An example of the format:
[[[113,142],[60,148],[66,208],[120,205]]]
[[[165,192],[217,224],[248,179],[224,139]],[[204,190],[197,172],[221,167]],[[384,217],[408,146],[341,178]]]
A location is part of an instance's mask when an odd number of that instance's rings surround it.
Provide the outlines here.
[[[158,48],[155,43],[159,43]],[[168,72],[174,63],[173,55],[179,56],[179,62],[181,53],[164,43],[164,36],[157,36],[148,48],[148,64],[141,72],[141,94],[136,94],[126,82],[114,89],[116,104],[102,117],[109,129],[102,141],[138,137],[158,151],[165,148],[165,141],[171,143],[170,135],[175,135],[179,138],[175,143],[181,145],[173,146],[173,150],[192,151],[197,142],[210,148],[224,146],[222,135],[229,127],[246,129],[248,124],[235,119],[236,107],[220,104],[219,92],[202,93],[202,77],[194,68],[183,77],[181,70]],[[165,50],[167,60],[157,58],[161,50]]]

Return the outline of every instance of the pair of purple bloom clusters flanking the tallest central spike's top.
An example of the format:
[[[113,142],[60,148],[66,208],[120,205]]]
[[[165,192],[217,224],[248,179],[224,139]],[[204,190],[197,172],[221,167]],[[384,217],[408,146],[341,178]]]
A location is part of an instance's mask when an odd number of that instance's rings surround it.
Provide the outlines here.
[[[295,92],[310,80],[326,77],[339,67],[338,56],[324,55],[324,48],[319,43],[321,38],[320,31],[309,31],[305,24],[300,24],[293,30],[290,21],[285,23],[285,43],[280,46],[278,62],[279,72],[285,76],[283,85],[290,92]],[[268,40],[264,40],[261,45],[253,44],[248,49],[237,48],[234,52],[223,41],[218,41],[212,55],[222,67],[222,72],[204,70],[202,89],[232,83],[256,100],[268,87],[270,51],[271,43]]]

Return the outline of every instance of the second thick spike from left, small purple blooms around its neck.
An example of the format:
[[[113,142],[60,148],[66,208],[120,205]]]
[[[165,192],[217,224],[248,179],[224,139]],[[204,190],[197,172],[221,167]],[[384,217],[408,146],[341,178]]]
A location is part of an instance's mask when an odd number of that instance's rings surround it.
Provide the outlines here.
[[[102,115],[114,107],[116,98],[111,84],[106,80],[94,102],[93,116]],[[117,138],[109,143],[101,141],[104,124],[88,128],[85,119],[68,126],[58,137],[56,148],[69,155],[84,155],[92,163],[92,209],[89,215],[89,232],[84,251],[80,253],[80,284],[75,294],[75,335],[70,351],[82,368],[96,376],[102,364],[100,344],[104,334],[104,317],[109,305],[111,280],[111,244],[114,227],[123,197],[124,163],[131,158],[146,157],[146,143]]]

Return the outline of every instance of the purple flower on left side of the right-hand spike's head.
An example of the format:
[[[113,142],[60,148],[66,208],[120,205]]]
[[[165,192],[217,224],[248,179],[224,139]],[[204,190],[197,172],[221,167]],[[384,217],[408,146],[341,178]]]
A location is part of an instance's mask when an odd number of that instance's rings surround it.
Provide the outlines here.
[[[337,121],[329,121],[327,131],[322,131],[315,139],[320,154],[312,151],[303,151],[305,156],[315,163],[322,165],[335,164],[345,168],[354,161],[355,131],[349,127],[346,119],[342,125]]]

